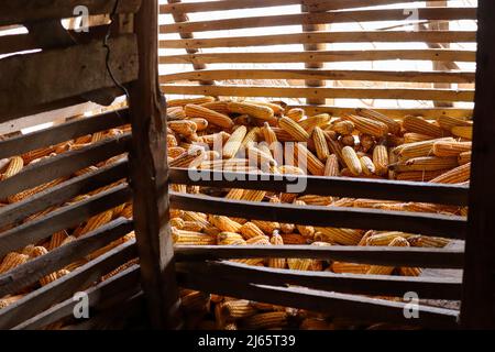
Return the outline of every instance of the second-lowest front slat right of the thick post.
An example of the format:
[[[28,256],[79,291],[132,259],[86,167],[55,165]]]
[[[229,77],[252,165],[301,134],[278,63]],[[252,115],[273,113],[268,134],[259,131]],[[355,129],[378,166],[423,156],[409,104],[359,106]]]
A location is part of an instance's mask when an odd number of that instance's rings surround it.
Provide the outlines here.
[[[180,263],[178,273],[216,280],[242,278],[250,284],[286,286],[295,285],[326,292],[356,295],[404,297],[408,292],[422,299],[461,299],[462,279],[439,277],[407,277],[388,275],[342,275],[330,272],[302,272],[272,267],[258,267],[240,263]]]

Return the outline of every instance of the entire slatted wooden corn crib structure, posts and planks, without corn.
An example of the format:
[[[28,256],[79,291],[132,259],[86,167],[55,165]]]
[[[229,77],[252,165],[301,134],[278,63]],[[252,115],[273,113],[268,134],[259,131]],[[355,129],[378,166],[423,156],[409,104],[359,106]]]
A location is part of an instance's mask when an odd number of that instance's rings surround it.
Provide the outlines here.
[[[25,260],[22,265],[0,273],[0,297],[26,292],[0,309],[1,329],[40,329],[72,317],[76,292],[89,297],[91,318],[72,321],[69,328],[98,329],[120,327],[123,317],[139,316],[146,307],[153,328],[179,329],[178,287],[228,295],[373,321],[408,323],[404,302],[366,298],[360,295],[402,297],[416,292],[419,297],[461,301],[461,309],[421,305],[415,324],[428,328],[494,328],[495,309],[495,124],[492,103],[495,91],[495,53],[491,38],[495,36],[495,3],[480,0],[474,8],[425,8],[420,20],[476,20],[475,32],[317,32],[327,23],[349,21],[353,8],[414,1],[301,1],[221,0],[198,3],[141,0],[67,0],[52,6],[48,1],[3,1],[0,4],[0,28],[24,25],[29,33],[0,36],[0,54],[25,52],[0,59],[0,123],[46,112],[69,114],[70,107],[87,107],[88,101],[108,105],[122,96],[125,87],[129,108],[111,110],[84,119],[73,119],[25,135],[12,135],[0,141],[0,160],[26,155],[42,147],[61,145],[99,131],[122,129],[123,133],[70,148],[31,164],[20,173],[0,182],[0,199],[16,199],[0,207],[0,257],[19,252],[32,243],[43,243],[54,233],[91,223],[96,216],[110,213],[112,220],[103,227],[87,229],[84,237],[68,241],[43,255]],[[446,1],[444,1],[446,2]],[[107,19],[89,33],[65,30],[61,19],[74,16],[76,6],[84,4],[91,16]],[[117,6],[116,6],[117,4]],[[187,13],[216,12],[231,9],[264,8],[286,4],[304,6],[300,14],[188,22]],[[333,10],[342,10],[334,12]],[[173,14],[177,23],[158,25],[158,13]],[[353,21],[389,21],[404,18],[403,10],[366,9],[352,13]],[[111,25],[108,19],[113,21]],[[274,25],[304,25],[305,33],[263,37],[215,37],[195,40],[193,33],[250,29]],[[109,30],[110,28],[110,30]],[[176,32],[180,40],[158,41],[160,33]],[[109,38],[105,41],[105,37]],[[331,72],[321,68],[323,62],[359,59],[436,61],[444,69],[453,61],[476,61],[475,53],[455,51],[439,44],[427,50],[366,51],[337,53],[322,50],[320,43],[346,42],[475,42],[477,37],[477,72],[471,73],[383,73]],[[106,42],[111,53],[107,59]],[[160,44],[158,44],[160,43]],[[200,53],[200,48],[305,44],[299,53]],[[184,55],[157,56],[160,48],[185,48]],[[448,44],[443,44],[448,45]],[[215,63],[305,63],[306,69],[210,69]],[[194,70],[163,75],[158,64],[190,63]],[[442,66],[443,65],[443,66]],[[447,65],[447,66],[446,66]],[[443,67],[443,68],[442,68]],[[110,68],[110,69],[109,69]],[[112,75],[110,75],[112,73]],[[113,76],[113,78],[111,77]],[[300,79],[304,88],[220,85],[222,79]],[[436,82],[438,87],[454,82],[476,82],[476,95],[453,89],[355,89],[326,88],[324,80],[411,80]],[[199,81],[184,85],[184,80]],[[179,81],[174,84],[174,81]],[[182,82],[180,82],[182,81]],[[441,86],[443,85],[443,86]],[[450,87],[450,86],[449,86]],[[305,179],[305,194],[359,197],[384,200],[424,201],[469,206],[469,217],[447,217],[372,209],[298,207],[294,205],[229,201],[206,195],[187,195],[168,190],[169,184],[199,185],[219,188],[284,191],[294,183],[287,177],[264,183],[227,182],[229,173],[210,172],[211,180],[194,182],[187,169],[169,168],[166,158],[165,105],[161,90],[168,95],[210,95],[243,97],[304,98],[308,113],[329,112],[340,116],[352,109],[326,106],[326,98],[393,98],[424,99],[441,102],[475,100],[471,185],[388,182],[299,176]],[[391,96],[393,95],[393,96]],[[82,105],[82,106],[81,106]],[[67,110],[68,109],[68,110]],[[81,108],[79,108],[81,109]],[[86,109],[86,108],[82,108]],[[418,114],[468,117],[471,109],[439,103],[427,109],[378,109],[394,118]],[[76,113],[73,113],[76,114]],[[129,155],[128,155],[129,153]],[[123,156],[122,156],[123,155]],[[117,157],[119,156],[119,157]],[[107,163],[112,160],[111,163]],[[91,165],[100,165],[91,168]],[[80,172],[85,170],[85,172]],[[80,173],[79,173],[80,172]],[[78,173],[77,177],[69,175]],[[222,175],[218,175],[218,173]],[[215,177],[217,176],[217,177]],[[223,177],[218,177],[223,176]],[[219,180],[215,180],[215,179]],[[231,179],[231,178],[227,178]],[[47,185],[52,187],[47,187]],[[102,190],[101,190],[102,189]],[[36,190],[36,191],[32,191]],[[96,191],[99,190],[99,191]],[[77,198],[79,195],[88,195]],[[20,197],[21,195],[21,197]],[[20,197],[19,199],[15,197]],[[77,201],[75,200],[77,199]],[[127,201],[133,202],[133,217],[123,216]],[[53,208],[58,207],[56,210]],[[120,207],[120,210],[117,211]],[[168,223],[168,210],[195,210],[230,217],[338,228],[397,230],[425,235],[441,235],[465,240],[461,248],[372,248],[372,246],[176,246]],[[110,212],[109,212],[110,211]],[[30,221],[25,219],[31,218]],[[96,221],[96,220],[95,220]],[[121,241],[134,231],[133,238]],[[119,242],[120,241],[120,242]],[[96,251],[112,245],[105,254]],[[67,265],[85,258],[76,270]],[[418,266],[425,268],[463,270],[463,277],[399,277],[336,275],[288,270],[274,270],[223,262],[229,258],[299,257],[331,258],[375,265]],[[136,261],[132,261],[139,258]],[[131,262],[130,262],[131,261]],[[127,264],[117,275],[102,276]],[[38,285],[55,273],[55,279]],[[58,275],[58,276],[57,276]],[[292,285],[292,286],[287,286]],[[116,307],[119,307],[118,309]],[[125,307],[125,309],[122,309]]]

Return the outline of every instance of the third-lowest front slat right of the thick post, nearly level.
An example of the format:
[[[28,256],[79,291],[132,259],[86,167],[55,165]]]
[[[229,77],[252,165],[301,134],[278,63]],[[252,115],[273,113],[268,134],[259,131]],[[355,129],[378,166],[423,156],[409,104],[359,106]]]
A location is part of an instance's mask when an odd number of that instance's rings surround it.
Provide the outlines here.
[[[463,249],[348,245],[178,245],[174,251],[177,262],[296,257],[431,268],[462,268],[464,265]]]

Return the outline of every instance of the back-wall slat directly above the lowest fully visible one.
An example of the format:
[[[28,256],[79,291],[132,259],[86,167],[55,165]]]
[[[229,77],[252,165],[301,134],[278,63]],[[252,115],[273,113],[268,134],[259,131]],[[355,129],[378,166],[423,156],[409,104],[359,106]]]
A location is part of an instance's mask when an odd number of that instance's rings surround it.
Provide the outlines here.
[[[160,77],[161,84],[176,80],[229,80],[229,79],[320,79],[320,80],[370,80],[414,82],[474,82],[471,72],[392,72],[345,69],[204,69],[174,73]]]

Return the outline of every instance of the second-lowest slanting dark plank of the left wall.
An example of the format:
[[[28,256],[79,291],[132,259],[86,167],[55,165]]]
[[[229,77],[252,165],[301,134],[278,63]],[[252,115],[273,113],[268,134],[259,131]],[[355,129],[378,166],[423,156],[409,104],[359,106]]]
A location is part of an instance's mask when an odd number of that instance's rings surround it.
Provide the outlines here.
[[[25,295],[0,310],[0,329],[13,328],[54,304],[72,297],[77,290],[88,287],[102,275],[134,257],[136,257],[135,241],[131,240],[80,266],[77,271]]]

